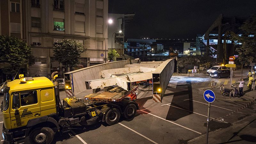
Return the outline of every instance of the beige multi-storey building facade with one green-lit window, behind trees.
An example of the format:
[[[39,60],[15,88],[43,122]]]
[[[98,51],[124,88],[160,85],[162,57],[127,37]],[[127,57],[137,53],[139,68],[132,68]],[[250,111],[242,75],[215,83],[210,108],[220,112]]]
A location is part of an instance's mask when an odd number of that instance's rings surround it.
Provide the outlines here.
[[[16,36],[33,50],[29,76],[67,71],[52,52],[54,42],[62,39],[84,44],[80,67],[103,63],[107,57],[108,0],[1,0],[0,5],[0,34]]]

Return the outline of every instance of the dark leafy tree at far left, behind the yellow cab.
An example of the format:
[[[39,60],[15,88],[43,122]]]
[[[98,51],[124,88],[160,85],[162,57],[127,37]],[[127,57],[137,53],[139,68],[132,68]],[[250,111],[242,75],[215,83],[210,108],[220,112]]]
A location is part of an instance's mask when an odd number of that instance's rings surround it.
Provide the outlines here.
[[[16,37],[0,35],[0,63],[11,66],[4,69],[5,74],[15,76],[31,56],[32,50],[26,42]]]

